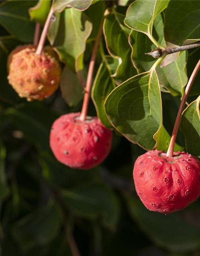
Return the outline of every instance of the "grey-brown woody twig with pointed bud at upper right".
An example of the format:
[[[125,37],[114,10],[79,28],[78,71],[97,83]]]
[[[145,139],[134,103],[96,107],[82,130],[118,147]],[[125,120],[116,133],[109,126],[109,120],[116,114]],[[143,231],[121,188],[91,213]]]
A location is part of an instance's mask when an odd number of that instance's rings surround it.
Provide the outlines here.
[[[172,54],[174,52],[181,52],[185,50],[190,50],[196,47],[200,47],[200,42],[194,43],[194,44],[188,44],[184,46],[178,46],[178,47],[167,47],[165,50],[162,50],[160,48],[155,48],[151,52],[145,53],[146,55],[152,56],[153,58],[159,58],[161,57],[164,53],[166,55]]]

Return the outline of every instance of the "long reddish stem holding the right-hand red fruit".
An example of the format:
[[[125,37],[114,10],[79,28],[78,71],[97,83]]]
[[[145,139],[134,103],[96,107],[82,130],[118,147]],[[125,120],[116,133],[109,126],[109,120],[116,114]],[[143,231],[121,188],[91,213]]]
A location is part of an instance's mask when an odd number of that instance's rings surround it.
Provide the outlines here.
[[[184,95],[183,95],[183,98],[182,98],[182,101],[180,103],[180,107],[179,107],[178,114],[176,116],[176,121],[175,121],[175,124],[174,124],[174,129],[173,129],[173,132],[172,132],[172,138],[170,140],[170,145],[169,145],[169,148],[168,148],[167,154],[166,154],[168,157],[172,157],[173,156],[174,144],[176,142],[176,136],[177,136],[177,133],[178,133],[178,128],[179,128],[179,124],[180,124],[181,114],[182,114],[182,112],[184,110],[184,106],[186,104],[186,100],[187,100],[188,95],[190,93],[190,89],[192,87],[194,79],[195,79],[195,77],[196,77],[196,75],[197,75],[199,70],[200,70],[200,60],[196,64],[196,67],[194,68],[194,70],[192,72],[192,75],[190,76],[190,79],[188,81],[188,84],[186,86],[186,89],[185,89],[185,92],[184,92]]]

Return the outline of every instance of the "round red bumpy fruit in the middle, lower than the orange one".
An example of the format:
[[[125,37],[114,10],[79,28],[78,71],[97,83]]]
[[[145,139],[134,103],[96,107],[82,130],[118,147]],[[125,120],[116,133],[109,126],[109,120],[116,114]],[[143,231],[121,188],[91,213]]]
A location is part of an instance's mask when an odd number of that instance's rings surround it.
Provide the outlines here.
[[[80,121],[80,113],[60,116],[52,125],[50,147],[57,160],[71,168],[90,169],[110,152],[112,132],[98,118]]]

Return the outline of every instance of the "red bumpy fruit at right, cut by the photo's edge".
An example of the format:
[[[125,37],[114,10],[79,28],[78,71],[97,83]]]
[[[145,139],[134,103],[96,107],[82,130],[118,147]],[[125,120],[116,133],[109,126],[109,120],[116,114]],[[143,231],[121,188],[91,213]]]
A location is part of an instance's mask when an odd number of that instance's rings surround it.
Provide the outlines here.
[[[200,196],[200,161],[185,152],[150,150],[134,165],[136,192],[149,210],[168,214],[182,210]]]

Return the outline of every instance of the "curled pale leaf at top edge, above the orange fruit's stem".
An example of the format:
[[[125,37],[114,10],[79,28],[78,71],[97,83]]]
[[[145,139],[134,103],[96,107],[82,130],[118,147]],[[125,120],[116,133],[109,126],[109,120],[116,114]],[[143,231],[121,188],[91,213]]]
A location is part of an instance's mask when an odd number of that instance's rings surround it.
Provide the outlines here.
[[[62,12],[67,7],[73,7],[77,10],[84,11],[91,3],[92,0],[55,0],[53,8],[57,12]]]

